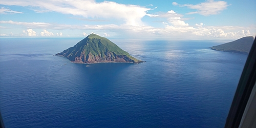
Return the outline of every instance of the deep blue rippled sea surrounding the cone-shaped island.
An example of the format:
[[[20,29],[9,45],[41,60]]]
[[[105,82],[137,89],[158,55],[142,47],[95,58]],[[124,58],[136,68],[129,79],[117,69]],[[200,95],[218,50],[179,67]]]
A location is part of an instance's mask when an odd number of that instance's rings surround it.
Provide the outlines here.
[[[6,127],[224,127],[247,55],[220,41],[112,40],[146,62],[86,67],[53,54],[82,38],[0,38]]]

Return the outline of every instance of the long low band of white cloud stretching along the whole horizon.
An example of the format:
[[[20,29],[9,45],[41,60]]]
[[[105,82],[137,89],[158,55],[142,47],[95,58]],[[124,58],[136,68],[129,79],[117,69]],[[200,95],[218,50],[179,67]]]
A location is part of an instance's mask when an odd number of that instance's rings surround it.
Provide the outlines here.
[[[159,14],[159,17],[162,16],[166,18],[165,16],[175,16],[174,11],[169,11],[169,14],[163,13]],[[214,39],[214,38],[223,38],[223,39],[236,39],[244,36],[255,36],[255,31],[253,27],[239,27],[239,26],[206,26],[203,23],[196,24],[195,26],[182,26],[179,24],[186,24],[180,19],[179,17],[177,19],[170,20],[170,18],[167,17],[168,22],[162,22],[163,26],[162,28],[156,28],[152,26],[130,26],[130,25],[114,25],[114,24],[108,24],[108,25],[63,25],[63,24],[55,24],[53,26],[49,26],[47,29],[45,29],[42,33],[42,35],[45,36],[61,36],[62,33],[58,33],[53,35],[51,32],[48,32],[47,30],[53,30],[53,29],[70,29],[72,28],[74,31],[76,30],[91,30],[91,31],[97,31],[100,32],[101,30],[109,31],[112,34],[111,35],[118,35],[118,36],[125,36],[126,38],[146,38],[146,39],[154,39],[154,38],[166,38],[166,39]],[[181,23],[179,23],[179,21]],[[174,22],[174,23],[171,23]],[[31,23],[26,23],[31,24]],[[47,24],[47,23],[46,23]],[[175,25],[177,24],[177,25]],[[100,31],[99,31],[100,30]],[[24,33],[21,34],[22,36],[38,36],[36,35],[36,32],[32,29],[23,30]],[[59,30],[55,30],[59,31]],[[41,32],[38,31],[39,36],[41,35]],[[10,36],[6,33],[0,33],[2,36]],[[72,35],[71,35],[72,34]],[[87,33],[71,33],[70,36],[86,36]],[[99,33],[103,36],[110,36],[108,33]],[[99,35],[98,34],[98,35]],[[19,34],[13,34],[13,36],[17,36]],[[184,36],[186,35],[186,36]],[[65,35],[67,36],[67,35]]]

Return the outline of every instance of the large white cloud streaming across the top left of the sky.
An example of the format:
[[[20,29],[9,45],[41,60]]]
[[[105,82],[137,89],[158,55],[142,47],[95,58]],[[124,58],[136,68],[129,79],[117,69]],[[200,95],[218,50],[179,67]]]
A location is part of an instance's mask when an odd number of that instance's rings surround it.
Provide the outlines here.
[[[20,0],[2,0],[2,5],[29,6],[37,7],[45,10],[59,12],[63,14],[81,15],[91,18],[107,18],[119,19],[127,25],[139,26],[142,25],[141,18],[146,15],[146,11],[151,10],[137,5],[124,5],[115,2],[96,2],[94,0],[77,0],[77,1],[20,1]]]

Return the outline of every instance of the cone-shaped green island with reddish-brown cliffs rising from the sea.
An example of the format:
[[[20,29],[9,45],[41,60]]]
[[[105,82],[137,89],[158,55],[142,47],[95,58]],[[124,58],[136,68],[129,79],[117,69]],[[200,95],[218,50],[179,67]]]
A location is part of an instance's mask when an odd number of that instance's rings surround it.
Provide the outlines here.
[[[75,63],[145,62],[132,57],[109,39],[96,34],[88,35],[74,47],[55,55],[67,57],[70,61]]]

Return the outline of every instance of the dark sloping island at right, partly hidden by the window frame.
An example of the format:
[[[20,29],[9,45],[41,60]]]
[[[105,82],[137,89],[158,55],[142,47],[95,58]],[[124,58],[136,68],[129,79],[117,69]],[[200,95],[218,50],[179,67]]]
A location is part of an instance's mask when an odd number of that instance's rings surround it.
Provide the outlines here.
[[[249,54],[252,43],[253,36],[246,36],[231,42],[227,42],[225,44],[219,46],[210,47],[212,50],[225,51],[225,52],[237,52]]]

